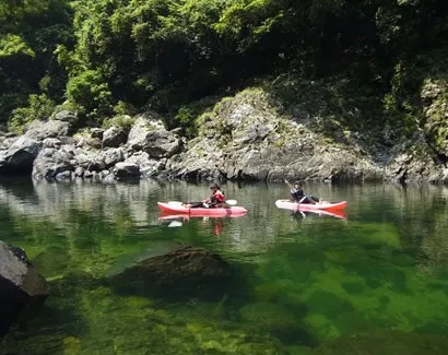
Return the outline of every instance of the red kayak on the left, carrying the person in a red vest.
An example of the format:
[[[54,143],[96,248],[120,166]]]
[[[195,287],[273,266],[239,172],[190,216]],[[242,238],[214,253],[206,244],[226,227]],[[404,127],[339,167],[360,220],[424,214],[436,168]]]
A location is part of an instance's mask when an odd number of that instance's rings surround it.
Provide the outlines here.
[[[181,202],[169,201],[169,202],[157,202],[158,209],[164,213],[180,213],[192,216],[236,216],[243,215],[247,212],[245,208],[241,206],[229,206],[229,208],[216,208],[216,209],[205,209],[205,208],[194,208],[190,209]]]

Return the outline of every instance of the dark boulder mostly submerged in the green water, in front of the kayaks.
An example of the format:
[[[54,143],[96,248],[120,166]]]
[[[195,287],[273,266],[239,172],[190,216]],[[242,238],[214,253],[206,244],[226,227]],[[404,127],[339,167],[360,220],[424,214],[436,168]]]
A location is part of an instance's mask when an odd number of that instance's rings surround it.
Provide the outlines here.
[[[111,277],[117,292],[165,298],[219,298],[231,280],[220,256],[186,246],[149,258]]]

